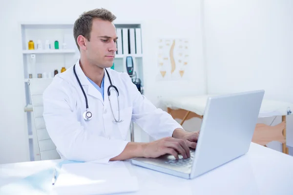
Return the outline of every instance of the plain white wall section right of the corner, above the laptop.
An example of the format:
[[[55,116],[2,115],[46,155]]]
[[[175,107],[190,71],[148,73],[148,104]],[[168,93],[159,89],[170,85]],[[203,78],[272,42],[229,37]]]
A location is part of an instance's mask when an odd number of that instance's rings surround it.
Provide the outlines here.
[[[265,98],[293,102],[292,0],[205,0],[204,26],[209,93],[264,89]]]

